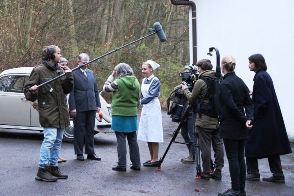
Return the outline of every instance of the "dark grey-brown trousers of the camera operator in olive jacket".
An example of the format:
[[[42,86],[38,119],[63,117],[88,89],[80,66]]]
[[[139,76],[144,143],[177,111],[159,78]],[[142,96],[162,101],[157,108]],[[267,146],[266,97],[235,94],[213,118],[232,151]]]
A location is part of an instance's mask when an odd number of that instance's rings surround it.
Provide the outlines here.
[[[203,173],[210,174],[211,145],[214,151],[214,163],[217,169],[224,167],[224,149],[220,140],[219,129],[206,129],[196,127],[199,135],[199,146],[201,149]]]

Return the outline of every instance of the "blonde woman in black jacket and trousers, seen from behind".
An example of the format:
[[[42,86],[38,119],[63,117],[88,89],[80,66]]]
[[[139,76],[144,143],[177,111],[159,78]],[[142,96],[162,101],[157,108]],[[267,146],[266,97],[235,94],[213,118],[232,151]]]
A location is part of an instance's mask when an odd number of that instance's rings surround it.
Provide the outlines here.
[[[247,129],[252,128],[254,107],[247,86],[234,72],[235,59],[227,55],[221,63],[225,75],[220,83],[220,137],[224,139],[232,189],[218,196],[246,195],[244,148]]]

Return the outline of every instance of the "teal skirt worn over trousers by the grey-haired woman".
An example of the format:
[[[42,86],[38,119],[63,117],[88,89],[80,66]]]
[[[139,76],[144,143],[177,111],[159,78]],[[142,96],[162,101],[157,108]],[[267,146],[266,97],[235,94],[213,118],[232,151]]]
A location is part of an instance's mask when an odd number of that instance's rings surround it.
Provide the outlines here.
[[[137,116],[112,116],[111,130],[125,133],[137,131]]]

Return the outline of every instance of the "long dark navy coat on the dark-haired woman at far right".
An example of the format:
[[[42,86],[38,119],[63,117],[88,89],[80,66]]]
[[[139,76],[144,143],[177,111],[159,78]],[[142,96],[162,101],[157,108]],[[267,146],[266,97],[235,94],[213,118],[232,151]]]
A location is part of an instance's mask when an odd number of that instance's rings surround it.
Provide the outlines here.
[[[265,158],[292,153],[271,77],[266,71],[259,71],[253,81],[254,123],[245,156]]]

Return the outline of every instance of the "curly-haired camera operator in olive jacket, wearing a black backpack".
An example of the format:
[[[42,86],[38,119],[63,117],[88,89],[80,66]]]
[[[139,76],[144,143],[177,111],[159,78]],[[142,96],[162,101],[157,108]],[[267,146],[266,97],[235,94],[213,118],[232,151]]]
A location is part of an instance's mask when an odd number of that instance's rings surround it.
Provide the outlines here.
[[[198,80],[194,84],[192,92],[189,91],[188,86],[183,82],[182,89],[184,95],[187,97],[190,104],[197,103],[197,100],[203,98],[203,103],[208,104],[210,97],[207,95],[208,86],[203,78],[213,79],[216,72],[212,70],[212,64],[208,59],[202,59],[197,62]],[[220,140],[220,130],[217,118],[210,117],[202,111],[202,116],[199,118],[196,114],[196,131],[199,134],[199,146],[202,152],[202,167],[203,171],[201,179],[209,180],[221,179],[221,169],[224,166],[224,150]],[[211,145],[213,146],[216,170],[210,175],[211,162]]]

